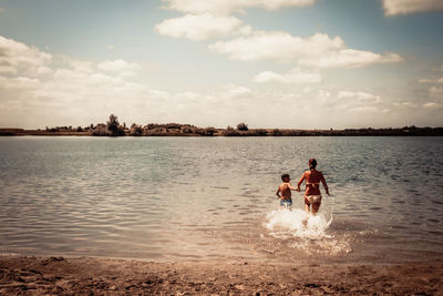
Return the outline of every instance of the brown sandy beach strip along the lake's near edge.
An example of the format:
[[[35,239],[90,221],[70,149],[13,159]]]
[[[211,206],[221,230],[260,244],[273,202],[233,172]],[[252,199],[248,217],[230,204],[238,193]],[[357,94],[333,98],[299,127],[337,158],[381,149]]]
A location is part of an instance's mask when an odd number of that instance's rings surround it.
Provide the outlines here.
[[[0,257],[0,295],[443,295],[442,279],[441,261],[298,265]]]

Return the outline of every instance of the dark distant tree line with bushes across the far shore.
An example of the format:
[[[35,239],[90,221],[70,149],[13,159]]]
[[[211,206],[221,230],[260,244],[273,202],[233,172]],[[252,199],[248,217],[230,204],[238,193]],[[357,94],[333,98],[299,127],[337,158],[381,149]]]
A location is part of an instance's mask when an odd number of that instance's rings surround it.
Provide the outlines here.
[[[389,135],[443,135],[443,127],[416,127],[415,125],[400,129],[346,129],[346,130],[296,130],[296,129],[250,129],[245,122],[233,127],[216,129],[198,127],[179,123],[148,123],[145,125],[120,123],[115,114],[111,114],[106,123],[87,126],[55,126],[43,131],[27,131],[22,129],[0,129],[0,135],[95,135],[95,136],[389,136]]]

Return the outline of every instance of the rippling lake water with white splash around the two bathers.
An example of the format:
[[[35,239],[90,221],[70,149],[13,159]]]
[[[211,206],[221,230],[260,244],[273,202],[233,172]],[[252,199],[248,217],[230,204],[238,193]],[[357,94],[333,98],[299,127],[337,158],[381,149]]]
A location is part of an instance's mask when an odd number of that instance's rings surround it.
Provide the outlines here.
[[[443,258],[442,137],[1,137],[0,254],[150,261]],[[331,191],[302,224],[280,175]]]

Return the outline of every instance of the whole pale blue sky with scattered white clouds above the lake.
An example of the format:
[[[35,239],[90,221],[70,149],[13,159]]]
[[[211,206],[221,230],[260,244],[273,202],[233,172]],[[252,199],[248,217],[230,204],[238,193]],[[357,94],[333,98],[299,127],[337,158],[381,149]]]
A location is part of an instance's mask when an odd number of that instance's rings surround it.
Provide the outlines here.
[[[443,126],[442,0],[0,0],[0,127]]]

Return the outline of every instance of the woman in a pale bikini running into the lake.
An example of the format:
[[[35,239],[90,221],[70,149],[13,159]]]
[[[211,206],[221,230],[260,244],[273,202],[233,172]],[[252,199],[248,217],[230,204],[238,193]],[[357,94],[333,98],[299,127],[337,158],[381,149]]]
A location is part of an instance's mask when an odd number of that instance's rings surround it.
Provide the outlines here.
[[[300,185],[306,180],[306,191],[305,191],[305,210],[306,214],[309,214],[312,206],[312,214],[317,214],[321,204],[321,192],[320,182],[323,184],[326,194],[329,195],[328,185],[323,174],[316,170],[317,161],[315,159],[309,160],[309,171],[306,171],[300,181],[297,184],[297,191],[300,191]]]

